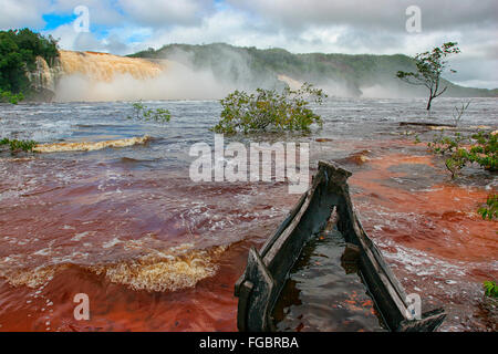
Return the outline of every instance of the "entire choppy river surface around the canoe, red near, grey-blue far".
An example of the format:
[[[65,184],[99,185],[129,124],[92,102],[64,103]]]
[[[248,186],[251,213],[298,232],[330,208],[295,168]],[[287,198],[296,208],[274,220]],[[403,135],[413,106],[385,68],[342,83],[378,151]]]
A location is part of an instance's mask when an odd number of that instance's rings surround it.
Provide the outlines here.
[[[438,101],[437,122],[450,123],[458,103]],[[0,155],[0,331],[237,330],[234,283],[248,249],[264,242],[299,195],[284,183],[193,183],[189,147],[212,146],[219,104],[145,104],[170,110],[172,122],[129,122],[131,105],[118,102],[0,106],[2,137],[65,146]],[[452,181],[442,160],[414,144],[415,133],[424,140],[434,132],[398,124],[425,119],[423,108],[423,100],[333,98],[318,108],[323,129],[271,139],[310,143],[310,174],[318,159],[353,171],[365,230],[423,310],[446,309],[440,331],[496,331],[481,283],[498,278],[498,228],[476,210],[497,178],[470,167]],[[463,124],[496,129],[497,108],[494,98],[476,98]],[[318,240],[309,267],[334,259],[328,242],[335,241]],[[317,306],[301,319],[287,310],[282,330],[382,330],[363,288],[333,303],[322,294],[321,275],[331,293],[350,278],[321,274],[301,289],[298,275],[291,300],[311,296]],[[77,293],[89,295],[89,321],[73,316]],[[333,312],[341,302],[347,311]],[[311,321],[319,309],[329,321]]]

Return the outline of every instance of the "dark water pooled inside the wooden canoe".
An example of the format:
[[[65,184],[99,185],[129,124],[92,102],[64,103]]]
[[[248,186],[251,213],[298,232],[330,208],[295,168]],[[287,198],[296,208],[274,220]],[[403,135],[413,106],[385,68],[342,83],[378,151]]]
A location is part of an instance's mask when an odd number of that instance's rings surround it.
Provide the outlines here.
[[[359,269],[359,250],[334,222],[307,242],[273,308],[277,331],[386,332]]]

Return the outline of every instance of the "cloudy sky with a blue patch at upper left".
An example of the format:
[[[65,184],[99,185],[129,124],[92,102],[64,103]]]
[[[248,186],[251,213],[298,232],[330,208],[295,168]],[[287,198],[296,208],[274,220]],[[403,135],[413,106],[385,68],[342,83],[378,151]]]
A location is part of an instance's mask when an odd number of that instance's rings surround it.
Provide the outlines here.
[[[0,30],[27,27],[62,49],[121,55],[214,42],[415,55],[455,41],[461,53],[447,79],[498,87],[497,0],[0,0]]]

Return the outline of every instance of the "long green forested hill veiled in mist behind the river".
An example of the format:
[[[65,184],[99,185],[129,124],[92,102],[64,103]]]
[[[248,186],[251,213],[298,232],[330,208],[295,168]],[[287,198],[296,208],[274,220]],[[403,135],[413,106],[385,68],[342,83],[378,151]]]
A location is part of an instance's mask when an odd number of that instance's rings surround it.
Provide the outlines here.
[[[287,83],[311,82],[338,96],[425,96],[419,86],[396,79],[398,70],[415,71],[403,54],[293,54],[283,49],[259,50],[225,43],[201,45],[168,44],[132,55],[151,60],[179,61],[195,70],[209,70],[222,82],[237,87],[279,87]],[[444,96],[497,97],[498,88],[463,87],[450,82]]]

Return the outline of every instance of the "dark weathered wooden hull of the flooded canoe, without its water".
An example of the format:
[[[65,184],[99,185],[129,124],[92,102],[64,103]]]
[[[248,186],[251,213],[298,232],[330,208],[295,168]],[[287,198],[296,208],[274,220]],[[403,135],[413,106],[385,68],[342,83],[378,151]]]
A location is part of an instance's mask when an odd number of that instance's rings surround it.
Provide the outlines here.
[[[388,330],[430,332],[442,324],[446,316],[443,309],[412,319],[403,287],[354,214],[347,186],[351,175],[333,163],[320,162],[311,188],[274,235],[259,252],[250,249],[246,270],[235,287],[239,331],[276,331],[272,311],[288,274],[305,243],[325,228],[334,209],[339,216],[336,228],[345,242],[359,250],[360,275]]]

